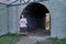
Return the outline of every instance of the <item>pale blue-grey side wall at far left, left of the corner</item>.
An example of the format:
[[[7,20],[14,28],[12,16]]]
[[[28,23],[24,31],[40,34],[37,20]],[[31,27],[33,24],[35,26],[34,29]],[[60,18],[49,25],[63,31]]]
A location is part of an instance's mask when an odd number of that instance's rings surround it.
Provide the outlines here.
[[[8,9],[6,4],[0,4],[0,35],[8,33]]]

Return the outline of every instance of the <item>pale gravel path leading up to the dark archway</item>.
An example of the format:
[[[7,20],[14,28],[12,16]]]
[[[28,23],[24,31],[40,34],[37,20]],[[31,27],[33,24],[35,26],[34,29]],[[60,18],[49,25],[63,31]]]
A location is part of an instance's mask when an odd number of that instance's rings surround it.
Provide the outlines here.
[[[22,36],[21,40],[15,43],[15,44],[34,44],[35,42],[43,42],[43,44],[47,44],[48,41],[46,41],[46,38],[48,38],[50,36]],[[51,43],[50,43],[51,44]]]

